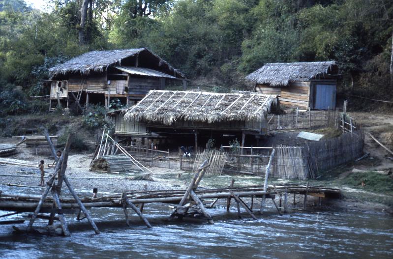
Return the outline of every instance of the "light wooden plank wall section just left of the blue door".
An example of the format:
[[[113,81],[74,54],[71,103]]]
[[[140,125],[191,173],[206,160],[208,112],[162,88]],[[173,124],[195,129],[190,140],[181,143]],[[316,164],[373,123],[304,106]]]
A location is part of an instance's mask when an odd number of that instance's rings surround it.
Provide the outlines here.
[[[299,109],[307,109],[310,96],[310,82],[290,82],[281,88],[280,104]]]

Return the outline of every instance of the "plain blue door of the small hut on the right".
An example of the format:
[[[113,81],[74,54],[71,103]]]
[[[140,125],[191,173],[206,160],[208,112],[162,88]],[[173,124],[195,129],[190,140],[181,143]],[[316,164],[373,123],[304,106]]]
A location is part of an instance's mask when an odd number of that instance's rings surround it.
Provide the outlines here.
[[[335,85],[314,85],[315,100],[314,109],[328,110],[335,108]]]

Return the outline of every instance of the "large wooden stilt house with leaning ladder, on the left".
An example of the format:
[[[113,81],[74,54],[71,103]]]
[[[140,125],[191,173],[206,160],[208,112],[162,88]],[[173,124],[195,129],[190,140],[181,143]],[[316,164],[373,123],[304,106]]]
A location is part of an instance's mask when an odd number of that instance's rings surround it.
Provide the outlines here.
[[[146,48],[92,51],[49,69],[51,107],[76,100],[109,105],[119,98],[133,105],[152,89],[184,85],[185,76]]]

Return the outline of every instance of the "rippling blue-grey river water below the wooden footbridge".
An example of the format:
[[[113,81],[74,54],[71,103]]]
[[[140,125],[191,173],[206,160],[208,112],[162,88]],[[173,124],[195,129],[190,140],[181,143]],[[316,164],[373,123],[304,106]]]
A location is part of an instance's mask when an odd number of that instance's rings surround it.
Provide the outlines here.
[[[393,217],[383,213],[343,210],[279,216],[271,207],[253,221],[247,214],[238,219],[235,207],[229,213],[220,206],[209,211],[214,225],[168,222],[168,205],[145,204],[153,226],[147,229],[131,211],[127,227],[122,209],[92,208],[101,234],[95,235],[86,220],[68,215],[71,237],[16,235],[11,225],[0,225],[0,258],[393,258]]]

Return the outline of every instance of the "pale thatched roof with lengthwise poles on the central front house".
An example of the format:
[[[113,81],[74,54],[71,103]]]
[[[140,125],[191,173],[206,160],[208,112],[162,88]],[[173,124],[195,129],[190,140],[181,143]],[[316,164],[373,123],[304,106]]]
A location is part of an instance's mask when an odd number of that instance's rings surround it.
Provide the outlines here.
[[[151,90],[125,111],[125,120],[171,125],[192,122],[260,121],[276,104],[273,95]]]

